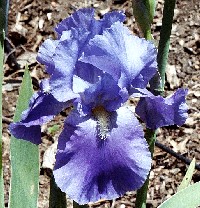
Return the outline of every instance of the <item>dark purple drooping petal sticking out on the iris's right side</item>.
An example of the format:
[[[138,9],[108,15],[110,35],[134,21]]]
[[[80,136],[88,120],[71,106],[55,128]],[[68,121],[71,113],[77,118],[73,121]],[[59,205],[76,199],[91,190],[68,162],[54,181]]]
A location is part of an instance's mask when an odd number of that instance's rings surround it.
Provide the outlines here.
[[[181,126],[187,119],[187,90],[178,89],[172,96],[150,96],[141,98],[135,111],[150,129],[162,126]]]

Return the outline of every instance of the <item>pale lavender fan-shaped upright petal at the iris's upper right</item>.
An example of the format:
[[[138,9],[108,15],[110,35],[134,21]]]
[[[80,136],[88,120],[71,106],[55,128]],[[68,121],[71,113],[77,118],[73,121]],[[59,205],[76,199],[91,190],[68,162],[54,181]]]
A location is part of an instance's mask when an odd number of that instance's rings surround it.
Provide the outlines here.
[[[80,61],[111,74],[120,87],[146,87],[157,67],[153,43],[131,35],[120,22],[91,39]]]

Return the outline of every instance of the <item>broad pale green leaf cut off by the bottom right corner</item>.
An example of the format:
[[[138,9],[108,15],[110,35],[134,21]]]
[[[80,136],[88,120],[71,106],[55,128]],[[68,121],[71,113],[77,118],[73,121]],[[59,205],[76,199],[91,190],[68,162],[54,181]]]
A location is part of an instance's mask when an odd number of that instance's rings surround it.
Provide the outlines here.
[[[200,182],[179,191],[158,208],[196,208],[198,206],[200,206]]]

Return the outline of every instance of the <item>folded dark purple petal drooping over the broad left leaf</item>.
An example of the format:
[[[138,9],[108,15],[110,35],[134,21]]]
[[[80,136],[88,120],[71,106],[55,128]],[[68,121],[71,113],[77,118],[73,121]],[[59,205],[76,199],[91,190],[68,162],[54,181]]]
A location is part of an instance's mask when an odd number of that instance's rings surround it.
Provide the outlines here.
[[[32,96],[29,108],[22,113],[21,121],[10,125],[13,136],[35,144],[41,143],[40,126],[71,105],[70,101],[57,101],[48,90],[50,90],[48,80],[44,80],[41,91]]]

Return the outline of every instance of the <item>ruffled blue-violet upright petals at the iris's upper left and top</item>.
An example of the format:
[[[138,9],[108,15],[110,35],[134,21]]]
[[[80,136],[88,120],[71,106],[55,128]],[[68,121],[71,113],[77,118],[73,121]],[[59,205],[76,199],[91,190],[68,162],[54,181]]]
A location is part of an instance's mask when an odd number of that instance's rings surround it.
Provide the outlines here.
[[[72,90],[73,75],[94,83],[102,71],[79,62],[82,49],[96,34],[101,34],[116,21],[124,21],[122,12],[111,12],[103,19],[94,18],[94,9],[80,9],[56,27],[57,40],[46,40],[39,49],[37,60],[46,66],[52,95],[60,102],[77,97]]]

